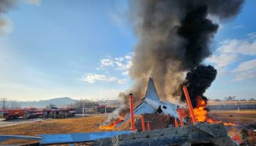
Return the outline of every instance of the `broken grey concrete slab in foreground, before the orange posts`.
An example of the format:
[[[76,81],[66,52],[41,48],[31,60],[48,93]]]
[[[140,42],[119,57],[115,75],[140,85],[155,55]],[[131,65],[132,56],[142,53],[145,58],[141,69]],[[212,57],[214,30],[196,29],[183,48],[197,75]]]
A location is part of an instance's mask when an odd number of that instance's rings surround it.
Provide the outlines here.
[[[94,145],[236,145],[223,123],[196,123],[195,126],[170,127],[151,131],[138,131],[132,134],[121,134],[116,137],[99,139]]]

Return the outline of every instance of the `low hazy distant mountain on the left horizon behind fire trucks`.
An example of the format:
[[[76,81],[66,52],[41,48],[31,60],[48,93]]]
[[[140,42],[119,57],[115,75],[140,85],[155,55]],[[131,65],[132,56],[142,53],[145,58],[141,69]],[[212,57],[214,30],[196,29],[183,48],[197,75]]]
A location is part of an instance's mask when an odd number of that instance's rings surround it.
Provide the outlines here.
[[[75,99],[69,97],[60,97],[55,99],[40,100],[40,101],[8,101],[7,106],[12,107],[13,104],[19,105],[20,107],[46,107],[49,104],[54,104],[57,107],[65,107],[69,104],[74,104]]]

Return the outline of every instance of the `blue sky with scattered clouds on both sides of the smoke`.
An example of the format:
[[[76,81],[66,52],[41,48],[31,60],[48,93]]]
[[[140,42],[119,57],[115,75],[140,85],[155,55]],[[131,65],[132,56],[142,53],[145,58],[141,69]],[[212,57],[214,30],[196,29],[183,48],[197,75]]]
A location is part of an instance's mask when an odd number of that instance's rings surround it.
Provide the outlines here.
[[[127,71],[137,38],[129,1],[23,0],[2,15],[0,97],[19,101],[69,96],[116,99],[132,85]],[[219,74],[206,96],[256,95],[256,1],[221,23],[211,45]],[[232,50],[232,51],[230,51]]]

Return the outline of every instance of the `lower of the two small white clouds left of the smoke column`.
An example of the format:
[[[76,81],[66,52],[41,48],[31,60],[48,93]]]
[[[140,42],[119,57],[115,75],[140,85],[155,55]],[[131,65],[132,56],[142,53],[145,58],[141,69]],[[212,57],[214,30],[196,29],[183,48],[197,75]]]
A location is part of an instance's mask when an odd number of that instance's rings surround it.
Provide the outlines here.
[[[118,79],[117,77],[108,77],[105,74],[87,74],[85,77],[82,77],[81,80],[89,83],[103,81],[103,82],[117,82],[118,84],[123,84],[126,82],[125,79]]]

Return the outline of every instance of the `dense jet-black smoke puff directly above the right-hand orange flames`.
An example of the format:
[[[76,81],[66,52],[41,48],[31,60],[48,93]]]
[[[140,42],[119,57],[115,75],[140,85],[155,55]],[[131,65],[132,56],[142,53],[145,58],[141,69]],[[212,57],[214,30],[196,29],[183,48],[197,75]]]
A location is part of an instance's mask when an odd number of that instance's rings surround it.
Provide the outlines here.
[[[214,69],[213,66],[200,65],[190,72],[187,72],[186,81],[183,85],[187,86],[193,107],[197,106],[197,102],[195,101],[197,96],[200,96],[207,102],[207,98],[203,96],[203,93],[205,93],[206,89],[211,86],[211,82],[215,80],[216,76],[217,70]],[[181,95],[181,100],[186,100],[184,93]]]

